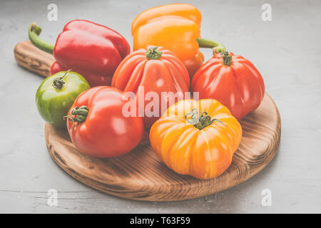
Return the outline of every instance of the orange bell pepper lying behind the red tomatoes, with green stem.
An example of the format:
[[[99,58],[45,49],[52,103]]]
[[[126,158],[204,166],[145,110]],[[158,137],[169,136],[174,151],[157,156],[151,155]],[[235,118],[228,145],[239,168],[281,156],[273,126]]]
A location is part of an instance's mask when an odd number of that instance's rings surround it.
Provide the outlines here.
[[[201,19],[200,11],[190,4],[168,4],[147,9],[131,25],[133,51],[149,45],[163,46],[178,56],[193,77],[204,61],[198,48],[225,51],[222,43],[200,38]]]

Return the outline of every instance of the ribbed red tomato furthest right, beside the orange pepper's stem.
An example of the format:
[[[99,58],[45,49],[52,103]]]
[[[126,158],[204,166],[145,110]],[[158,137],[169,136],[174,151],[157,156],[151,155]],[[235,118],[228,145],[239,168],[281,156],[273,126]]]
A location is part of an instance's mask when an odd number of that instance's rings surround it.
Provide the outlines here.
[[[192,80],[193,92],[199,98],[213,98],[230,109],[240,120],[260,105],[265,86],[253,63],[223,52],[215,54],[198,69]]]

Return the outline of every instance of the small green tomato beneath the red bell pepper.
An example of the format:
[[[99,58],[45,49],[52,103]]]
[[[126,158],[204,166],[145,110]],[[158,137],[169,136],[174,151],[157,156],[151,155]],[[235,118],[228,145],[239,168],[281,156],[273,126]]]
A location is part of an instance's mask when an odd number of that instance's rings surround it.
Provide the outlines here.
[[[36,105],[41,117],[58,128],[66,128],[64,116],[79,94],[90,88],[79,73],[61,71],[46,78],[36,92]]]

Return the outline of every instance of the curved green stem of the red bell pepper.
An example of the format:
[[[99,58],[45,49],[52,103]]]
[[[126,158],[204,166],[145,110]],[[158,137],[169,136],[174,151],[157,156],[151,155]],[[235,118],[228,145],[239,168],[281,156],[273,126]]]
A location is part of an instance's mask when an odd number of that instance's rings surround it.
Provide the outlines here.
[[[42,51],[52,54],[54,52],[54,45],[39,38],[40,33],[41,28],[37,26],[36,23],[31,23],[28,30],[29,40],[31,43]]]

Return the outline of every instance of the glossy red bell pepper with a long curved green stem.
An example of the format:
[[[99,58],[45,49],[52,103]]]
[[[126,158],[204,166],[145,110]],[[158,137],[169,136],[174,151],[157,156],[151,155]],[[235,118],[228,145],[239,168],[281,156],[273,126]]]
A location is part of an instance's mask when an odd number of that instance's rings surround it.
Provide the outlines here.
[[[41,28],[29,26],[29,39],[37,48],[53,53],[51,74],[72,69],[86,78],[91,86],[109,86],[113,73],[131,48],[123,36],[111,28],[91,21],[74,20],[52,45],[39,38]]]

